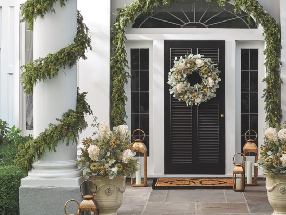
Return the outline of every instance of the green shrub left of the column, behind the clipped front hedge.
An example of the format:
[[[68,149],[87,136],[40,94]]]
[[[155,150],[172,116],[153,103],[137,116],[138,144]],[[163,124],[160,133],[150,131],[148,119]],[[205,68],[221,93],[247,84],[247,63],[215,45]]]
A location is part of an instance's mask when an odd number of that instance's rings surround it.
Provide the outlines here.
[[[9,138],[4,138],[3,143],[0,145],[0,166],[8,166],[13,164],[13,160],[18,151],[18,145],[20,143],[28,142],[33,139],[29,136],[19,136],[10,140]]]

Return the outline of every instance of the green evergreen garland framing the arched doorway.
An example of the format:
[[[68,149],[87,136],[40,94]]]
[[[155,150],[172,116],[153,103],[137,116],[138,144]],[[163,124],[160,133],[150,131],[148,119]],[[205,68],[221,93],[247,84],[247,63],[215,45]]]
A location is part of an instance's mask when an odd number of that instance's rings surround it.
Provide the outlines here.
[[[111,93],[111,121],[114,126],[125,123],[127,118],[125,110],[125,102],[127,97],[125,95],[124,86],[127,83],[127,78],[131,77],[125,70],[129,68],[127,62],[127,55],[125,51],[125,29],[128,23],[135,22],[135,16],[140,13],[147,13],[152,11],[154,6],[170,5],[175,0],[134,0],[129,6],[125,8],[118,8],[116,22],[113,24],[113,37],[112,44],[114,46],[114,56],[111,57],[111,78],[112,78],[112,93]],[[212,2],[212,0],[206,0]],[[230,0],[217,0],[220,6],[224,6],[225,2]],[[278,92],[281,87],[280,65],[279,60],[281,48],[281,31],[278,23],[272,18],[259,4],[257,0],[234,0],[234,12],[241,13],[243,9],[248,14],[248,22],[250,17],[256,20],[256,25],[261,25],[264,29],[266,48],[265,55],[265,68],[267,76],[263,82],[266,83],[264,89],[265,101],[265,121],[269,122],[269,126],[273,127],[280,123],[282,118],[282,109]]]

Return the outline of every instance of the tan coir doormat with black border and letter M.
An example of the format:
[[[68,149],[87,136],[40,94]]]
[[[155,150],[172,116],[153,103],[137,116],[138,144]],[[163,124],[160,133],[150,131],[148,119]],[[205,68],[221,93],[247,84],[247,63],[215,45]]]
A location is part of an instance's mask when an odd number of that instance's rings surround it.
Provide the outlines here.
[[[158,178],[152,189],[232,189],[232,178]]]

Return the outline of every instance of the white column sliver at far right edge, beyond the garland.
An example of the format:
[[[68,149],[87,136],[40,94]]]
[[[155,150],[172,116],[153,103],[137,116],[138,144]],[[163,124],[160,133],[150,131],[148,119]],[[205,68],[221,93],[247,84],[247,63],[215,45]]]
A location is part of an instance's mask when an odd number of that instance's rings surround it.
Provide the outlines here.
[[[281,77],[284,82],[281,87],[282,122],[286,121],[286,1],[280,0],[280,26],[281,26]]]

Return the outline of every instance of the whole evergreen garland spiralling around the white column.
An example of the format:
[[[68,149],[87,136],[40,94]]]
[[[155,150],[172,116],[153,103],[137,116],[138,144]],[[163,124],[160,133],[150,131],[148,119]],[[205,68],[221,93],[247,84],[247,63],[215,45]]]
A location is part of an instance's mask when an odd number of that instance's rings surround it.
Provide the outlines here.
[[[55,13],[53,4],[58,0],[27,0],[21,4],[22,19],[21,22],[29,24],[29,30],[33,31],[34,19],[44,17],[44,14],[51,11]],[[65,6],[67,0],[59,0],[61,7]],[[21,83],[26,94],[33,93],[33,87],[38,82],[44,82],[58,75],[61,67],[68,65],[73,67],[80,58],[87,59],[85,51],[91,50],[91,39],[86,25],[83,23],[83,17],[78,11],[77,18],[77,36],[73,44],[64,47],[54,54],[49,54],[44,58],[38,58],[33,62],[27,63],[21,67]],[[62,115],[62,119],[56,119],[58,124],[49,124],[48,128],[40,133],[35,139],[27,143],[22,143],[18,147],[18,152],[14,164],[19,166],[23,171],[31,170],[32,163],[35,159],[40,159],[45,151],[56,152],[56,146],[59,141],[77,143],[79,133],[88,126],[85,121],[87,114],[91,115],[92,111],[86,102],[87,93],[77,94],[76,110],[68,110]]]

